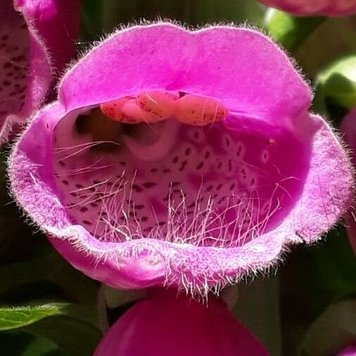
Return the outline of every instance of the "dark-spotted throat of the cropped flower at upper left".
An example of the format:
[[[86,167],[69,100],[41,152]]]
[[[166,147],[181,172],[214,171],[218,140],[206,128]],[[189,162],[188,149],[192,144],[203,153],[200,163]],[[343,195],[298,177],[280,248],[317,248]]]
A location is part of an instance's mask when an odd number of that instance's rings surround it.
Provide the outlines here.
[[[25,20],[13,9],[12,1],[4,1],[4,4],[1,2],[0,17],[2,19],[0,27],[1,126],[6,124],[8,115],[19,113],[25,104],[29,43]]]

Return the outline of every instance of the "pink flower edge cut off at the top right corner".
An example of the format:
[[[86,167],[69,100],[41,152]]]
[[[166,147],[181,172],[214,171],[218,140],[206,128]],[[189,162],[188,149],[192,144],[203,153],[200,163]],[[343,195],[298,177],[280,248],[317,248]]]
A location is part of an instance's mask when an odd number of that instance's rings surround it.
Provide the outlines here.
[[[356,0],[260,0],[295,15],[345,16],[356,13]]]

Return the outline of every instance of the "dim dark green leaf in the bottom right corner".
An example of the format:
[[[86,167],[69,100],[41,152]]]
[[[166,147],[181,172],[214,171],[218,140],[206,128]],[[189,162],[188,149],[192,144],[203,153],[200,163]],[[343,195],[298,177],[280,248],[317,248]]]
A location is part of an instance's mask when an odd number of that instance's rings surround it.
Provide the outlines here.
[[[356,339],[356,300],[331,305],[312,324],[302,345],[305,356],[336,355]]]

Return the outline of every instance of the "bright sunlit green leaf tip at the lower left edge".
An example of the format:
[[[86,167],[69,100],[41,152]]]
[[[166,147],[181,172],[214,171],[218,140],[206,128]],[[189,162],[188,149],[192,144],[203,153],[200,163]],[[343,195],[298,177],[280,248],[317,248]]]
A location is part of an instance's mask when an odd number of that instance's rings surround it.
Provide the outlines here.
[[[0,330],[20,328],[61,313],[61,305],[56,304],[40,305],[38,307],[1,307]]]

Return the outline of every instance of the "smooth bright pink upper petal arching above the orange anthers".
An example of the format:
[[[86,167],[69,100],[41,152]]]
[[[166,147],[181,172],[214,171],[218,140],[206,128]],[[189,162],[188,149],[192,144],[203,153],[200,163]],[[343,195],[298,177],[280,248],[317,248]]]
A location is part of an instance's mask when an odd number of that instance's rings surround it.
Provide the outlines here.
[[[59,97],[73,110],[148,88],[224,98],[236,112],[267,120],[298,116],[311,100],[286,55],[259,32],[167,23],[111,35],[68,71]]]

